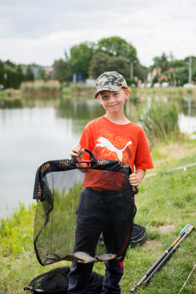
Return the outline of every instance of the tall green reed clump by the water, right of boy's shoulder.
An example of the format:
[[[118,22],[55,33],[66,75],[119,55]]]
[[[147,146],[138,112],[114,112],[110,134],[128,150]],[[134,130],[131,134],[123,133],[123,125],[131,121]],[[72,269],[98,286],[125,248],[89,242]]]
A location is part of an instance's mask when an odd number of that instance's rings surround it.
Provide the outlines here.
[[[174,101],[153,101],[144,109],[140,121],[143,124],[147,138],[157,141],[177,141],[180,130],[178,124],[179,108]]]

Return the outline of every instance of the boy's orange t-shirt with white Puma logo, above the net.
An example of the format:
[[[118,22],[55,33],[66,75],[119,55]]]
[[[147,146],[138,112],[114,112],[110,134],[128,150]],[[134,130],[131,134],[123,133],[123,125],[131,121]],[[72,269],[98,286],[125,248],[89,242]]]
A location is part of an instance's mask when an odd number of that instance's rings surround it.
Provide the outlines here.
[[[93,151],[95,158],[124,161],[135,169],[153,169],[147,138],[141,126],[130,122],[116,124],[104,116],[87,123],[79,141],[81,148]],[[90,160],[85,152],[83,160]]]

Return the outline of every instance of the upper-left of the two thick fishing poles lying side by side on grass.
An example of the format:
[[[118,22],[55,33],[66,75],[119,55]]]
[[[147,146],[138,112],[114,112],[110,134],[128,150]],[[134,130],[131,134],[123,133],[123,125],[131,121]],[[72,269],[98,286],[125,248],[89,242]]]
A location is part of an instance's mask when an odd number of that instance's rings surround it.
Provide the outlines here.
[[[190,227],[191,224],[187,223],[186,226],[180,231],[180,235],[175,239],[175,241],[168,247],[167,250],[155,261],[155,263],[151,266],[149,270],[142,276],[142,278],[135,284],[135,286],[130,290],[130,292],[134,292],[137,288],[142,285],[142,283],[147,279],[150,273],[159,265],[159,263],[164,259],[164,257],[172,250],[172,248],[176,245],[176,243],[183,237],[185,234],[185,230]]]

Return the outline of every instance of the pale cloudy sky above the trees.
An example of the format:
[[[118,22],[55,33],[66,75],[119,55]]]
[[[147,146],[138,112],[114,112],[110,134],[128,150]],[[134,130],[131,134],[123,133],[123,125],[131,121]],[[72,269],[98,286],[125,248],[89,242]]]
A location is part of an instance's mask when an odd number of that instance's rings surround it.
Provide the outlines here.
[[[196,56],[196,0],[0,0],[0,59],[51,66],[84,41],[120,36],[142,65]]]

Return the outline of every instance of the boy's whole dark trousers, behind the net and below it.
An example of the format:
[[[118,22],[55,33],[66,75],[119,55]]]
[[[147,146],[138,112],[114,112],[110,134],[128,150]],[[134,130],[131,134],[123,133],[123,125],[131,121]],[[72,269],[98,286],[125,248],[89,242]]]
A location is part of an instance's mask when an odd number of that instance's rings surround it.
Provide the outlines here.
[[[95,256],[98,239],[103,232],[106,253],[123,256],[130,237],[133,214],[132,201],[120,191],[83,190],[76,209],[76,229],[73,252],[83,251]],[[94,263],[73,262],[69,274],[68,294],[86,294]],[[119,282],[123,275],[123,263],[105,262],[103,293],[120,294]]]

